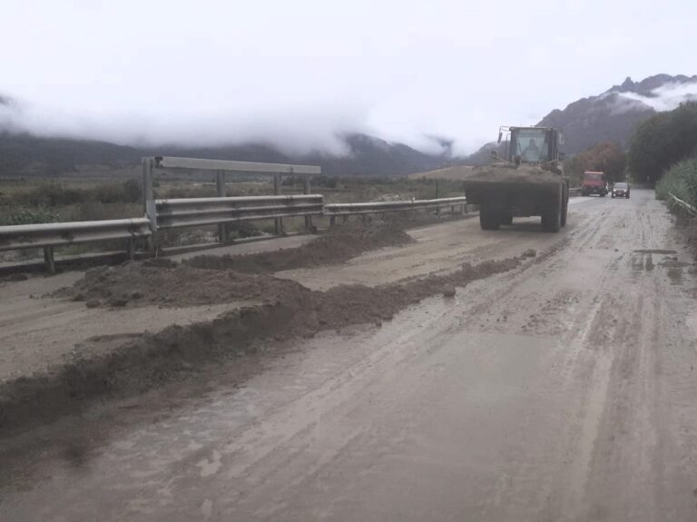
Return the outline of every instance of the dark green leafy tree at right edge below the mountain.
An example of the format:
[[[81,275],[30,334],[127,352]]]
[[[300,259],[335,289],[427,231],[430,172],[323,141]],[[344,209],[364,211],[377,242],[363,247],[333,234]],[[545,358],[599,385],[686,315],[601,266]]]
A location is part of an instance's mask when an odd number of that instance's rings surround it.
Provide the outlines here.
[[[666,169],[696,152],[697,103],[682,103],[636,128],[629,146],[629,169],[638,180],[655,182]]]

